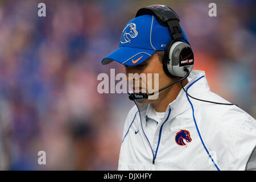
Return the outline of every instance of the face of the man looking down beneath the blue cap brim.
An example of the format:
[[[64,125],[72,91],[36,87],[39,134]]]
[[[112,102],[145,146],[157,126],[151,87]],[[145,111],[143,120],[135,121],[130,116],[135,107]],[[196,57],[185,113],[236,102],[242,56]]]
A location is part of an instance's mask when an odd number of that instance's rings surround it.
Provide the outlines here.
[[[163,71],[163,64],[159,59],[157,53],[154,53],[150,58],[144,61],[141,64],[135,66],[125,66],[126,77],[129,81],[129,84],[133,86],[134,93],[152,93],[164,86],[170,84],[171,78],[168,77]],[[130,77],[129,74],[138,73],[138,75],[145,75],[146,77]],[[156,76],[158,74],[158,77]],[[150,76],[151,75],[151,76]],[[159,93],[163,94],[164,90]],[[152,97],[150,99],[150,97]],[[139,101],[140,103],[149,104],[156,101],[158,97],[149,96],[149,99]]]

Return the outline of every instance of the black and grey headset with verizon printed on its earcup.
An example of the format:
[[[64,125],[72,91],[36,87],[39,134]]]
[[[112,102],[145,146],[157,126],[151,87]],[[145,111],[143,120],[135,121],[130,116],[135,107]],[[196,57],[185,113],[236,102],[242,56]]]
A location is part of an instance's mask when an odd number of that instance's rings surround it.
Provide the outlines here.
[[[151,5],[137,11],[137,16],[154,15],[158,22],[168,27],[172,40],[168,42],[163,56],[163,70],[168,76],[184,77],[187,74],[185,69],[191,72],[194,64],[194,55],[190,44],[185,40],[179,24],[179,17],[168,6]],[[186,43],[181,42],[184,40]]]

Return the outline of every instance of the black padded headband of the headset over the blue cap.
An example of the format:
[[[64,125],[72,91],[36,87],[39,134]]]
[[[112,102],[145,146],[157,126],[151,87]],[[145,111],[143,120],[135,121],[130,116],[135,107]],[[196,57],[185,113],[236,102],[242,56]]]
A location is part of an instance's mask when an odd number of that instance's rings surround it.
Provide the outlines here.
[[[146,14],[154,15],[162,26],[168,26],[174,40],[185,40],[179,24],[180,19],[175,11],[172,10],[170,7],[164,5],[151,5],[143,7],[142,9],[139,9],[137,11],[135,17]]]

